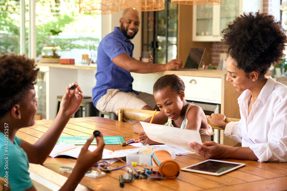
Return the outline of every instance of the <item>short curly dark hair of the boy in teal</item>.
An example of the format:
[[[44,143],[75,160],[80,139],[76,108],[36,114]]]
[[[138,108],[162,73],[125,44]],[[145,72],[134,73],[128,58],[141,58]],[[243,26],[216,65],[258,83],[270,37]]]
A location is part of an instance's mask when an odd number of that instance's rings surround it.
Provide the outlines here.
[[[39,69],[34,60],[15,54],[0,56],[0,118],[34,88]]]

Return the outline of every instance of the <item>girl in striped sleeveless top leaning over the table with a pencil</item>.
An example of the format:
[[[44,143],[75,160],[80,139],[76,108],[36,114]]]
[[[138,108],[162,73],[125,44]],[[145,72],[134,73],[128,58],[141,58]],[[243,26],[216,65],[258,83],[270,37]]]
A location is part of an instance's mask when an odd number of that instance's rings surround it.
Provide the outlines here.
[[[210,141],[210,136],[214,133],[203,110],[184,99],[184,90],[183,80],[175,74],[162,76],[156,81],[153,89],[154,99],[161,112],[154,116],[152,123],[165,123],[171,127],[196,130],[200,132],[201,139]],[[150,119],[151,117],[144,122],[149,122]],[[141,143],[157,144],[146,136],[140,123],[134,125],[133,131],[139,133]]]

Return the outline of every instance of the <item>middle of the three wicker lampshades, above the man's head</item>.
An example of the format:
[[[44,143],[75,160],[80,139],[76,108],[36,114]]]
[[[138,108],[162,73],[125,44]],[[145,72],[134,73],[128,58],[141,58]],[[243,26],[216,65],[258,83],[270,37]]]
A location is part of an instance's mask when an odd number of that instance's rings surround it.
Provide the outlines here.
[[[164,9],[164,0],[120,0],[120,9],[135,8],[137,11],[160,11]]]

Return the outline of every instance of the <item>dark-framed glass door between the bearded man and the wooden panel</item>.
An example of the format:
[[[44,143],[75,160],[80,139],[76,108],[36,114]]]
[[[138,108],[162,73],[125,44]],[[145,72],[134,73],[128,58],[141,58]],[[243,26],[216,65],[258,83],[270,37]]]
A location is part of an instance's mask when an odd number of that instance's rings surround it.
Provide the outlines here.
[[[164,10],[142,13],[142,51],[157,64],[177,58],[177,4],[168,0]]]

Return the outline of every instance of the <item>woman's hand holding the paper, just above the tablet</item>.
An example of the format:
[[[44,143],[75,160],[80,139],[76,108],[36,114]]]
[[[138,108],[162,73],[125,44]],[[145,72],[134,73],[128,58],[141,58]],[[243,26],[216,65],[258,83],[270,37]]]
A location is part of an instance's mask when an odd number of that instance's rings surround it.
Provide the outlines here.
[[[188,145],[207,159],[224,157],[224,146],[214,141],[206,141],[202,145],[197,142],[192,142]]]

